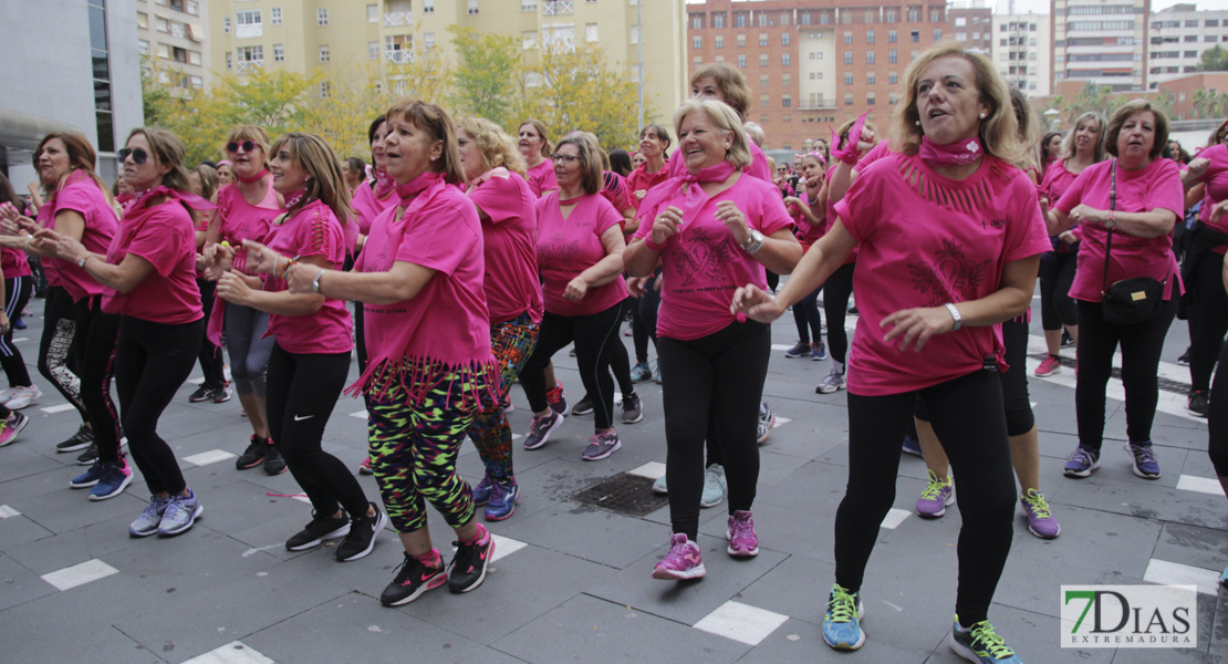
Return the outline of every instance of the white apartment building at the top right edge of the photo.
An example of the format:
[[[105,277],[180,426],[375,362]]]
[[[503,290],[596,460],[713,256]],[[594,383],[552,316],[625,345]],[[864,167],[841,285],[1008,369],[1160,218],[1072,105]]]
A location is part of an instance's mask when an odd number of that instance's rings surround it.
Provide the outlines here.
[[[1228,11],[1199,11],[1197,5],[1173,5],[1151,15],[1147,28],[1147,87],[1199,71],[1202,52],[1228,48]]]

